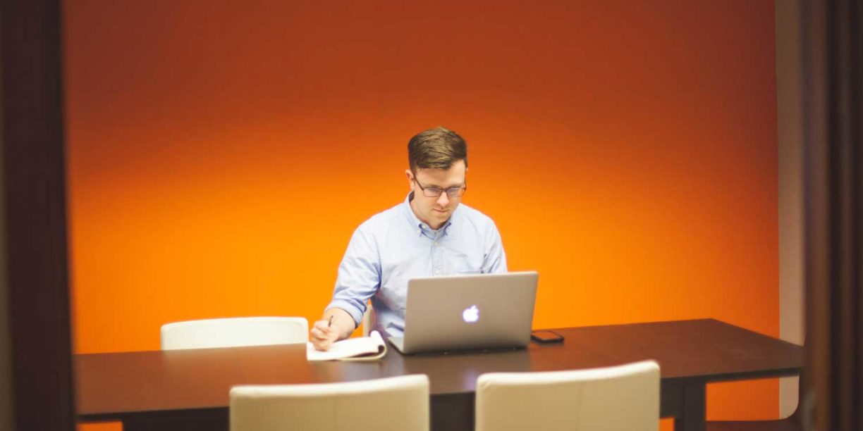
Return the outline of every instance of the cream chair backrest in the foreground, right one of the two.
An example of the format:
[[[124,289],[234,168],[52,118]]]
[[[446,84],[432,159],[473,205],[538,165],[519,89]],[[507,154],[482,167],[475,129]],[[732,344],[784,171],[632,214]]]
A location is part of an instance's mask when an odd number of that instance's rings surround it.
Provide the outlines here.
[[[657,431],[653,361],[562,372],[493,372],[476,382],[476,430]]]

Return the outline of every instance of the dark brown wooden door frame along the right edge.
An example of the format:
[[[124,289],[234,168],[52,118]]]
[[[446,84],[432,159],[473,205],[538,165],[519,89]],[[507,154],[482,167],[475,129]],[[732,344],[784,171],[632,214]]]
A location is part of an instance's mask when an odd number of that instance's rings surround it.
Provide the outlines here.
[[[804,0],[805,429],[863,427],[863,6]]]

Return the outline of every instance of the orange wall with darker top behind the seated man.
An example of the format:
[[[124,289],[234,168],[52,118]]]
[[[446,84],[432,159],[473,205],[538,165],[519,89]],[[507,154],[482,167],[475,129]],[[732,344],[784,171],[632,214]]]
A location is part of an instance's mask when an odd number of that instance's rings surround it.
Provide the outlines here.
[[[535,328],[778,336],[772,1],[64,8],[76,353],[318,318],[354,228],[405,197],[407,140],[438,125],[469,142],[463,202],[540,273]],[[778,384],[708,399],[772,418]]]

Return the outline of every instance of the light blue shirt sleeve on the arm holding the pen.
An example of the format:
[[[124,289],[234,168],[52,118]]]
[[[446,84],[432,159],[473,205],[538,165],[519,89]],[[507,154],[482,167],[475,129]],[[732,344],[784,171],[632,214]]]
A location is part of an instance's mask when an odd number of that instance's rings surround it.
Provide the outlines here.
[[[375,239],[360,226],[350,238],[348,250],[338,265],[336,288],[326,309],[343,309],[359,326],[369,297],[381,286],[381,259]],[[324,309],[324,312],[325,310]]]

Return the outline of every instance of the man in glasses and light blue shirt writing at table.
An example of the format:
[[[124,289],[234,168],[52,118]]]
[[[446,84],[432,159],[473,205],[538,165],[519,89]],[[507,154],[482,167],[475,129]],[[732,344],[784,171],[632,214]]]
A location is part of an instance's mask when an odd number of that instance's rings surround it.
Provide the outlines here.
[[[356,228],[338,267],[332,302],[312,326],[318,350],[350,336],[369,298],[375,329],[400,336],[411,278],[507,272],[494,222],[461,204],[468,171],[462,137],[446,128],[425,130],[408,142],[407,157],[411,191],[404,203]]]

